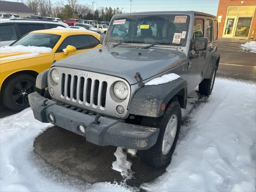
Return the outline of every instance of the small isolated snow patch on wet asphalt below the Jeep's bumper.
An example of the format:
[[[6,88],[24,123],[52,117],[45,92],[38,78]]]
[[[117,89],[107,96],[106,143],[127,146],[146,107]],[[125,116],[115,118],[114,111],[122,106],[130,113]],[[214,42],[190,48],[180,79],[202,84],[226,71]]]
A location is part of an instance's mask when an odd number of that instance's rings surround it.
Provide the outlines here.
[[[127,154],[123,151],[123,148],[118,147],[116,152],[114,152],[116,156],[116,161],[112,163],[112,169],[118,171],[123,176],[124,180],[132,178],[131,166],[132,163],[128,161]]]

